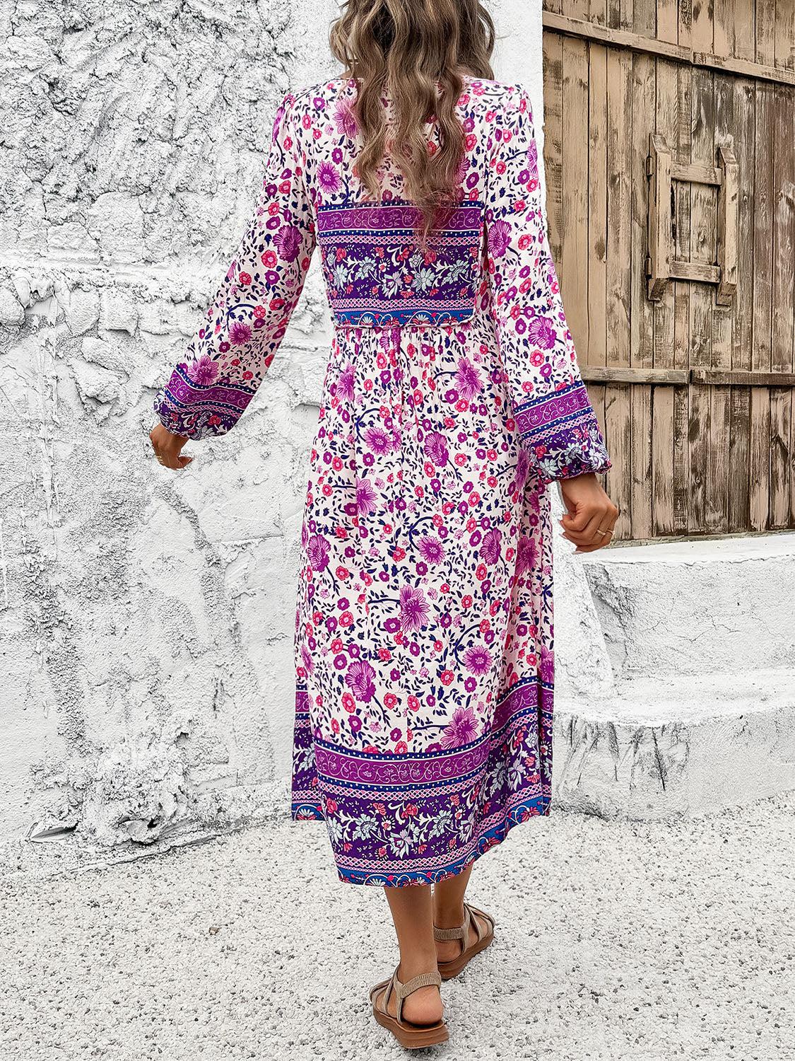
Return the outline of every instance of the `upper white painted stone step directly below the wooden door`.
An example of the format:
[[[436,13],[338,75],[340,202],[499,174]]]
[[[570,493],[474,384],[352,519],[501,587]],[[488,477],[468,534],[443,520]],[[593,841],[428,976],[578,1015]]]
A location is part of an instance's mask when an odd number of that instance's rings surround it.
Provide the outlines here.
[[[583,555],[616,678],[795,669],[795,534]]]

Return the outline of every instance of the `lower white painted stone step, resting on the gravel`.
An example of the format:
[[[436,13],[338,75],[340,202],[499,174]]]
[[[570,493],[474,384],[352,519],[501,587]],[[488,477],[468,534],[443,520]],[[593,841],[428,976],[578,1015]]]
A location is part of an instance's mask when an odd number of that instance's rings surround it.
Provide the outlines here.
[[[555,705],[554,803],[605,818],[695,816],[795,788],[795,668],[633,675]]]

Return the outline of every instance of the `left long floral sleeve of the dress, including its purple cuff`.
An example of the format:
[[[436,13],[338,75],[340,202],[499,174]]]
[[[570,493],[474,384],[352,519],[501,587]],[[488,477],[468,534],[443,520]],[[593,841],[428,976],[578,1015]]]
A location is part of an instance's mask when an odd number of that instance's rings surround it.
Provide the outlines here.
[[[273,123],[262,189],[224,281],[155,398],[169,431],[224,435],[262,383],[303,288],[315,225],[292,127],[293,97]]]

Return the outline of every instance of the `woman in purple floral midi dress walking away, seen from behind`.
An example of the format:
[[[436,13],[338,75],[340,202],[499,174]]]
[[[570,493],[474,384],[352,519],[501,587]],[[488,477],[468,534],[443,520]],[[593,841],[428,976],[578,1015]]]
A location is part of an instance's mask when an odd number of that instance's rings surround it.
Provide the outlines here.
[[[547,815],[552,529],[605,545],[610,467],[545,231],[527,94],[492,80],[478,0],[349,0],[341,77],[288,93],[262,192],[152,442],[229,431],[316,243],[334,338],[296,620],[293,817],[341,881],[383,886],[400,964],[372,992],[405,1046],[447,1039],[439,987],[491,943],[474,860]],[[431,884],[434,891],[431,894]]]

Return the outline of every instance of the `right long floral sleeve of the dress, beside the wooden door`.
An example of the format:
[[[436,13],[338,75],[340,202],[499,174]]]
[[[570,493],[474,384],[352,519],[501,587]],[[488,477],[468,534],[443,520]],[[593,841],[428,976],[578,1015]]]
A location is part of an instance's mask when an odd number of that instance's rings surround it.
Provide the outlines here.
[[[495,117],[485,223],[492,312],[524,446],[547,482],[611,467],[549,251],[530,100]]]

